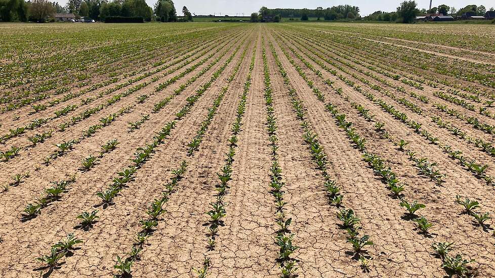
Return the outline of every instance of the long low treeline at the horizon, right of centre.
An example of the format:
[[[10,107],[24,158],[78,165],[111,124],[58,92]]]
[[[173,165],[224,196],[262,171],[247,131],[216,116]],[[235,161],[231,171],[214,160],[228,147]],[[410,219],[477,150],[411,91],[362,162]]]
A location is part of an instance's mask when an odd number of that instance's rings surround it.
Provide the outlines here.
[[[323,9],[318,7],[316,9],[268,9],[263,7],[260,9],[261,16],[279,16],[285,19],[301,18],[317,18],[318,20],[340,20],[340,19],[355,19],[360,18],[359,7],[350,5],[339,5],[332,8]]]

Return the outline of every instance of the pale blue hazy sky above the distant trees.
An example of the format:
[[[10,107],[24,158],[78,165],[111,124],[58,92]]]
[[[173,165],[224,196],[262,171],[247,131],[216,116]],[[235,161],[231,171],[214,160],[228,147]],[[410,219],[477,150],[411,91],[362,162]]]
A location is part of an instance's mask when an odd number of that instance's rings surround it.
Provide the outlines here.
[[[155,0],[146,0],[150,7],[153,7]],[[344,1],[323,1],[323,0],[174,0],[175,7],[178,14],[182,14],[182,7],[186,6],[191,13],[196,14],[214,14],[215,15],[229,15],[234,16],[236,14],[250,15],[253,12],[258,11],[262,6],[268,8],[308,8],[315,9],[316,7],[332,7],[337,5],[352,5],[361,9],[361,15],[368,15],[375,11],[395,11],[402,0],[344,0]],[[420,9],[428,9],[430,0],[416,0]],[[457,9],[463,8],[467,5],[483,5],[488,10],[490,7],[495,6],[493,0],[475,0],[475,1],[460,1],[460,0],[433,0],[433,7],[445,4],[447,6],[453,6]]]

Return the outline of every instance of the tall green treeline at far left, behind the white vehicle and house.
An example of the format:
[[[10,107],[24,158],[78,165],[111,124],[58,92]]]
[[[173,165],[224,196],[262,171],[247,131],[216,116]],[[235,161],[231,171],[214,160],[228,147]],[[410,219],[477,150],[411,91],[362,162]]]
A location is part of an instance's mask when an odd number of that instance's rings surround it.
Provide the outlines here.
[[[184,21],[192,21],[192,15],[184,6]],[[69,0],[65,7],[47,0],[0,0],[0,21],[37,21],[53,19],[55,13],[72,13],[76,18],[89,17],[94,20],[112,22],[177,21],[177,11],[172,0],[158,0],[154,9],[145,0]]]

